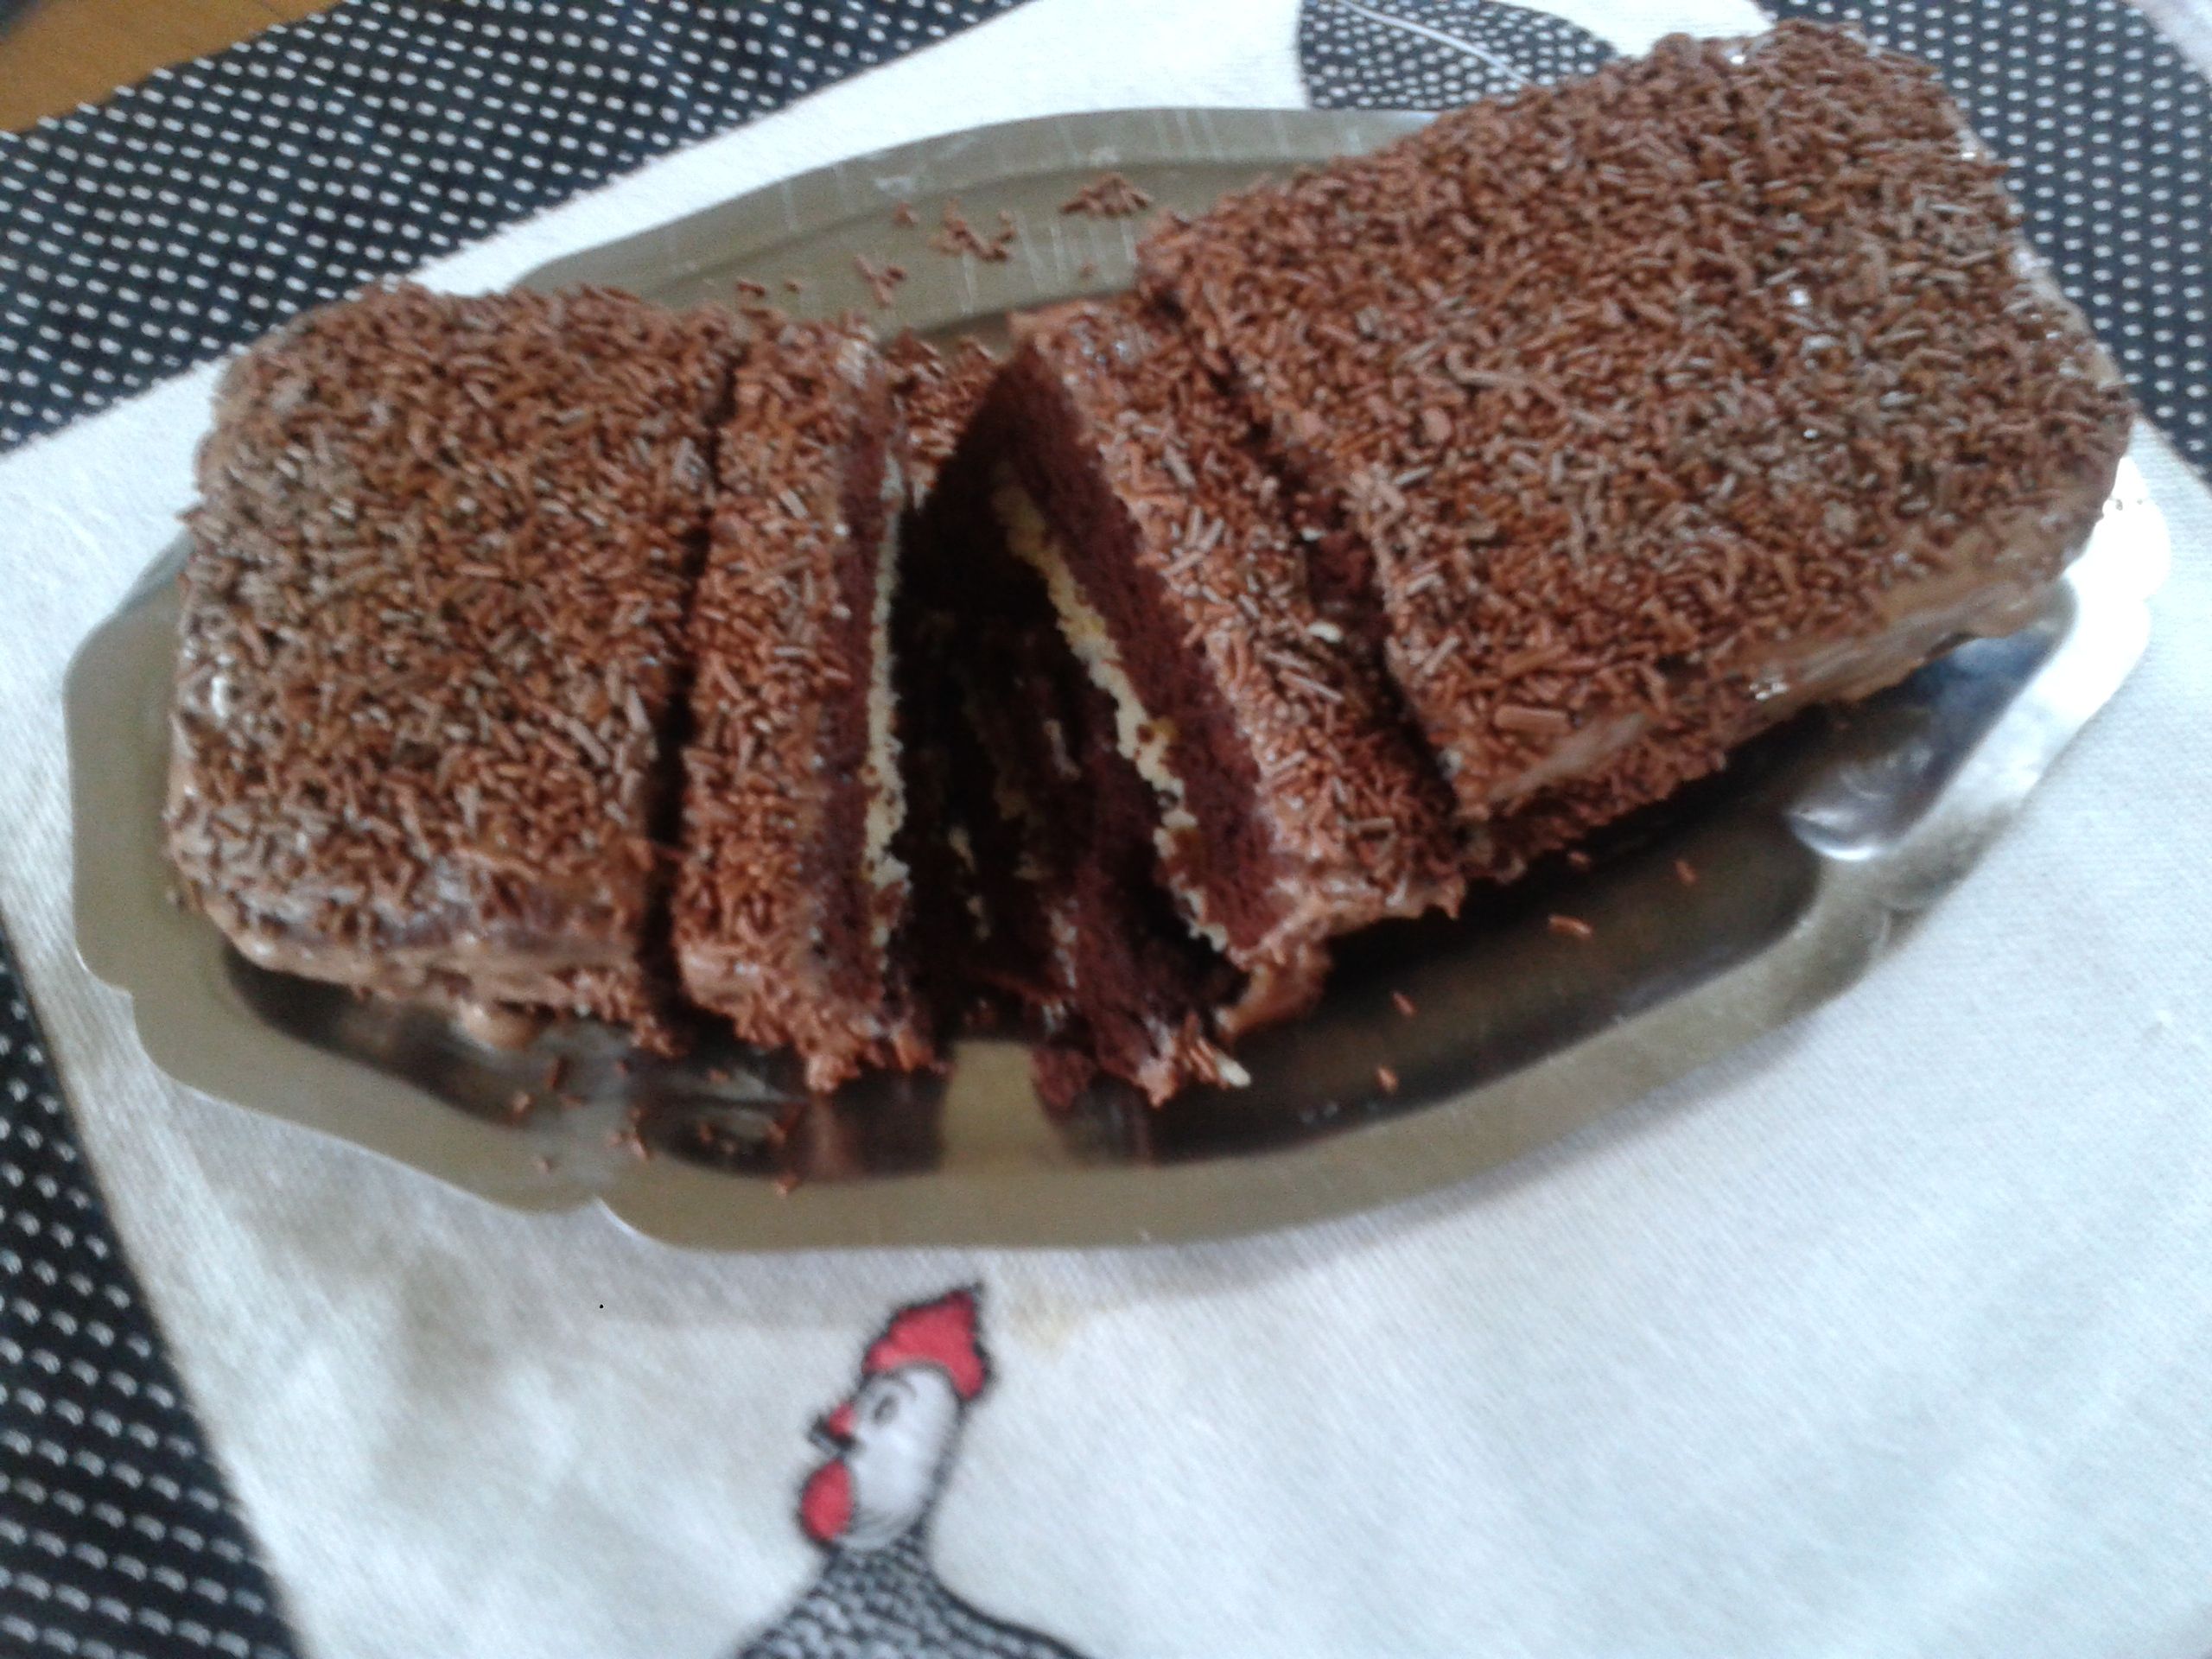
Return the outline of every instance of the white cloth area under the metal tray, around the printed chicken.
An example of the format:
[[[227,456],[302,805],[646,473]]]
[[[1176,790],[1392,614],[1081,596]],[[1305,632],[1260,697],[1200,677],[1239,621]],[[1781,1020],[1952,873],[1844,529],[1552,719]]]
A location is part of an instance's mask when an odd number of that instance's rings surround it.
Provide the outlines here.
[[[1564,7],[1562,7],[1564,9]],[[1730,0],[1575,7],[1624,49]],[[1057,108],[1296,104],[1290,0],[1033,0],[518,226],[522,270]],[[933,1526],[1086,1655],[2201,1655],[2212,1644],[2212,498],[2020,825],[1820,1013],[1464,1188],[1150,1252],[695,1256],[199,1099],[75,964],[60,679],[210,374],[0,460],[0,911],[316,1655],[719,1655],[812,1584],[812,1418],[980,1285]]]

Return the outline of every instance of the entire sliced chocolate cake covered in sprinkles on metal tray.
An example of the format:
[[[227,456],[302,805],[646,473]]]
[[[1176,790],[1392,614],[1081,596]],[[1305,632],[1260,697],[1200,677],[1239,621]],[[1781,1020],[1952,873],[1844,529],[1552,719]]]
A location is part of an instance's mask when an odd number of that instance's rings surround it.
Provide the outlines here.
[[[816,1091],[978,1024],[1243,1082],[1338,936],[2037,613],[2130,411],[2000,173],[1785,24],[1230,197],[1006,363],[314,312],[201,447],[173,863],[263,967]]]

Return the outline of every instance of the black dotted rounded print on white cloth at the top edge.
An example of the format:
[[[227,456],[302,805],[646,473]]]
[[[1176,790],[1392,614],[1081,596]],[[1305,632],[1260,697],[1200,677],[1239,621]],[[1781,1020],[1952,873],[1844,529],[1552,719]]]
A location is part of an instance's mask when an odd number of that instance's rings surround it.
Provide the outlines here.
[[[1449,108],[1588,75],[1613,46],[1491,0],[1307,0],[1298,69],[1316,108]]]

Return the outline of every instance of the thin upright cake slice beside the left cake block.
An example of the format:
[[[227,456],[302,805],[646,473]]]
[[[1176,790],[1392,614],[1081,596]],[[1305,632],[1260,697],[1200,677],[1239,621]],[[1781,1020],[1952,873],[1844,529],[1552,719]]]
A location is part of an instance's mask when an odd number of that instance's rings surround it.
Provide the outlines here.
[[[690,615],[672,933],[690,1000],[796,1048],[821,1091],[931,1060],[905,962],[889,639],[905,460],[863,330],[754,323]]]

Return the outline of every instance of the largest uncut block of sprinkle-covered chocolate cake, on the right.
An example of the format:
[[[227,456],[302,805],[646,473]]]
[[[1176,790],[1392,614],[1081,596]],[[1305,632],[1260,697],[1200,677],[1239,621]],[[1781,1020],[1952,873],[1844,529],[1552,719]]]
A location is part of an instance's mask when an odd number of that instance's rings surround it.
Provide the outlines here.
[[[1148,241],[1367,584],[1475,869],[2033,615],[2128,400],[2000,177],[1924,66],[1783,24]]]

